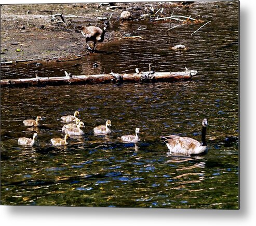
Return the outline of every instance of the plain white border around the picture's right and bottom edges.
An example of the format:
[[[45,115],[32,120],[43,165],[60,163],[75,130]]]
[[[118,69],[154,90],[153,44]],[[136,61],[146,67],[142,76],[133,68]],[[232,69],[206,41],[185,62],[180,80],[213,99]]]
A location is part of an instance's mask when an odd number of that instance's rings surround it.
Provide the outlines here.
[[[7,4],[79,2],[107,1],[10,0],[8,3],[6,1]],[[253,116],[256,102],[255,57],[253,58],[255,55],[253,53],[256,52],[255,6],[255,1],[240,1],[240,210],[0,206],[1,224],[5,226],[254,225],[256,222],[254,167],[256,150],[253,143],[255,135]]]

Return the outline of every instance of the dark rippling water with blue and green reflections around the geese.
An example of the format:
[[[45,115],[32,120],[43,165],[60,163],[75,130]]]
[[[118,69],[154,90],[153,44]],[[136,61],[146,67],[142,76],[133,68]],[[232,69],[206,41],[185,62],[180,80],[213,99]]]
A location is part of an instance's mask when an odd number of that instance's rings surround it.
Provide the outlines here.
[[[217,5],[219,7],[217,7]],[[60,76],[146,70],[199,74],[188,82],[99,84],[1,89],[1,203],[164,208],[238,208],[238,3],[195,3],[188,16],[213,18],[200,25],[169,32],[169,23],[145,21],[113,24],[128,33],[139,26],[144,39],[105,44],[83,61],[5,66],[1,78]],[[178,14],[178,13],[177,13]],[[225,17],[223,16],[225,14]],[[190,50],[172,51],[176,44]],[[100,66],[92,68],[93,63]],[[75,64],[80,64],[74,67]],[[52,147],[61,137],[60,117],[75,110],[85,135],[66,147]],[[22,121],[41,115],[42,126]],[[178,134],[200,141],[201,120],[207,117],[205,156],[168,154],[160,135]],[[112,121],[112,137],[93,134],[93,127]],[[123,134],[140,127],[141,142],[123,143]],[[18,145],[19,137],[38,133],[34,147]],[[234,142],[225,142],[234,137]]]

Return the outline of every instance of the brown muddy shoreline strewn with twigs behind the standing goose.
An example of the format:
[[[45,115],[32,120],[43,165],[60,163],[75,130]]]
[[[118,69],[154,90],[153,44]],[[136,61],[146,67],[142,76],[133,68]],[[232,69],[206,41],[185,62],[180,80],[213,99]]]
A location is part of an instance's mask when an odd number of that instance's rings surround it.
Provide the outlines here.
[[[43,58],[65,61],[90,54],[79,28],[88,25],[103,27],[101,18],[111,24],[122,23],[120,13],[131,12],[133,20],[150,20],[151,9],[164,8],[161,16],[168,16],[173,9],[187,10],[189,6],[166,3],[115,3],[110,5],[89,4],[19,4],[1,5],[1,62]],[[52,15],[61,13],[54,20]],[[146,15],[143,16],[142,15]],[[100,19],[99,19],[100,17]],[[110,26],[101,45],[116,39]]]

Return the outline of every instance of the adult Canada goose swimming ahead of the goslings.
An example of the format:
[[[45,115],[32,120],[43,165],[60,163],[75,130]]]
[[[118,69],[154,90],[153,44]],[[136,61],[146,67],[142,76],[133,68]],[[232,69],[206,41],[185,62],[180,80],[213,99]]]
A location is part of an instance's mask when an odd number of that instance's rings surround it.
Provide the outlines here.
[[[183,155],[198,155],[200,153],[207,153],[208,147],[206,145],[206,127],[208,126],[208,120],[205,118],[202,122],[202,143],[186,137],[179,137],[178,135],[169,135],[167,137],[161,136],[171,153],[183,154]]]

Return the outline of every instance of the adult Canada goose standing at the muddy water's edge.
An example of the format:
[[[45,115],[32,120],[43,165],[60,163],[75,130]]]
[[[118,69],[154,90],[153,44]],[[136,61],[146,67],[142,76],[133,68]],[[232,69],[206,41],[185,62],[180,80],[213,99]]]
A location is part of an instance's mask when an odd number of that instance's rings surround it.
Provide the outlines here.
[[[82,28],[82,35],[86,38],[87,49],[91,50],[92,52],[95,51],[95,46],[97,42],[104,41],[104,35],[106,33],[106,28],[109,27],[109,22],[104,22],[103,31],[101,28],[96,26],[89,26]],[[88,41],[93,41],[93,49],[90,48]]]

